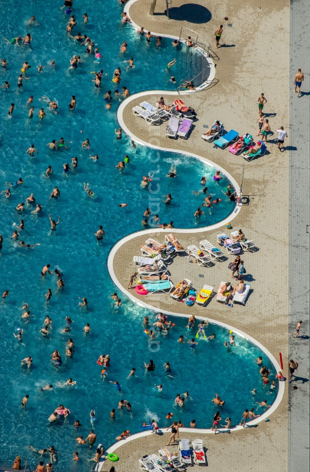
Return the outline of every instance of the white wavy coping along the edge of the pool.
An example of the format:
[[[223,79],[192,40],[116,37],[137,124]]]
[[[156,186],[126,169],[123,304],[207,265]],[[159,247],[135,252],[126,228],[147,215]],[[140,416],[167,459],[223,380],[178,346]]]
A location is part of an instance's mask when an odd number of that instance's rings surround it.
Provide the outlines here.
[[[130,14],[129,14],[129,9],[131,7],[131,5],[133,5],[136,1],[138,0],[130,0],[126,5],[125,5],[125,8],[124,8],[124,11],[126,11],[128,17],[130,17]],[[131,20],[131,25],[135,28],[135,29],[139,29],[139,26],[136,25],[132,20]],[[151,34],[158,34],[158,33],[154,33],[154,32],[151,32]],[[172,38],[172,39],[175,39],[175,36],[172,36],[172,35],[169,35],[169,34],[160,34],[162,37],[166,37],[166,38]],[[214,76],[215,76],[215,67],[214,67],[214,63],[212,60],[210,60],[209,57],[207,57],[205,55],[206,59],[208,59],[208,62],[209,62],[209,65],[210,65],[210,75],[209,75],[209,78],[208,78],[208,84],[212,82],[212,80],[214,79]],[[209,61],[210,60],[210,61]],[[203,84],[202,84],[203,85]],[[202,88],[197,88],[197,92],[198,91],[201,91],[203,89],[206,88],[207,85],[205,85],[204,87]],[[214,230],[216,228],[220,228],[222,227],[223,225],[227,224],[228,222],[230,222],[233,218],[235,218],[235,216],[239,213],[239,211],[241,210],[241,207],[242,207],[242,203],[241,203],[241,196],[242,196],[242,189],[240,189],[239,185],[237,184],[237,182],[235,181],[235,179],[228,173],[226,172],[225,169],[221,168],[220,166],[218,166],[217,164],[215,164],[214,162],[206,159],[206,158],[203,158],[201,156],[199,156],[198,154],[194,154],[194,153],[191,153],[191,152],[185,152],[185,151],[181,151],[179,149],[170,149],[170,148],[164,148],[164,147],[160,147],[160,146],[157,146],[157,145],[154,145],[154,144],[151,144],[151,143],[148,143],[146,141],[143,141],[142,139],[138,138],[137,136],[135,136],[130,130],[129,128],[126,126],[124,120],[123,120],[123,111],[126,107],[127,104],[130,103],[130,101],[133,101],[134,99],[136,98],[139,98],[139,97],[143,97],[145,95],[150,95],[150,94],[160,94],[160,95],[184,95],[184,94],[187,94],[187,93],[195,93],[196,91],[182,91],[180,93],[178,92],[175,92],[175,91],[167,91],[167,90],[150,90],[150,91],[147,91],[147,92],[139,92],[139,93],[135,93],[134,95],[130,95],[128,98],[126,98],[126,100],[124,100],[120,106],[118,107],[117,109],[117,120],[120,124],[120,126],[122,127],[122,129],[124,130],[124,132],[129,135],[132,139],[134,139],[134,141],[136,143],[139,143],[143,146],[146,146],[146,147],[149,147],[151,149],[157,149],[159,151],[165,151],[165,152],[171,152],[171,153],[178,153],[178,154],[184,154],[186,156],[190,156],[190,157],[193,157],[195,159],[198,159],[198,160],[201,160],[202,162],[206,163],[207,165],[210,165],[218,170],[221,171],[222,174],[224,174],[229,180],[230,182],[232,183],[232,185],[234,185],[235,187],[235,190],[237,192],[237,195],[239,195],[240,197],[240,202],[236,205],[235,207],[235,210],[224,220],[222,221],[219,221],[218,223],[214,224],[214,225],[211,225],[211,226],[208,226],[208,227],[201,227],[201,228],[173,228],[173,231],[174,233],[199,233],[199,232],[204,232],[204,231],[211,231],[211,230]],[[119,241],[117,241],[117,243],[112,247],[112,249],[110,250],[110,253],[109,253],[109,256],[108,256],[108,270],[109,270],[109,274],[110,274],[110,277],[112,278],[114,284],[119,288],[119,290],[121,290],[121,292],[123,292],[132,302],[134,303],[137,303],[138,305],[142,306],[143,308],[147,308],[151,311],[158,311],[158,309],[152,305],[150,305],[149,303],[145,303],[143,302],[142,300],[139,300],[137,299],[136,297],[134,297],[134,295],[132,295],[132,293],[128,292],[128,290],[125,289],[125,287],[123,287],[121,285],[121,283],[118,281],[116,275],[115,275],[115,272],[114,272],[114,268],[113,268],[113,260],[114,260],[114,256],[115,254],[117,253],[117,251],[119,250],[119,248],[125,244],[126,242],[130,241],[131,239],[134,239],[135,237],[137,236],[141,236],[141,235],[147,235],[147,234],[153,234],[153,233],[158,233],[158,232],[167,232],[166,229],[162,229],[162,228],[151,228],[151,229],[143,229],[141,231],[137,231],[135,233],[132,233],[132,234],[129,234],[125,237],[123,237],[122,239],[120,239]],[[165,314],[169,315],[169,316],[177,316],[177,317],[180,317],[180,318],[188,318],[188,315],[185,315],[185,314],[182,314],[182,313],[176,313],[176,312],[171,312],[171,311],[163,311]],[[218,326],[221,326],[223,328],[226,328],[228,330],[232,330],[234,331],[234,333],[238,334],[238,336],[240,337],[243,337],[244,339],[250,341],[252,344],[254,344],[255,346],[259,347],[260,350],[269,358],[270,362],[273,363],[274,365],[274,368],[276,370],[276,372],[280,371],[281,368],[280,368],[280,365],[278,364],[278,362],[276,361],[276,358],[262,345],[260,344],[256,339],[254,339],[253,337],[247,335],[246,333],[244,333],[243,331],[239,330],[239,329],[235,329],[233,326],[230,326],[230,325],[227,325],[226,323],[222,323],[220,321],[217,321],[217,320],[213,320],[211,318],[206,318],[206,317],[203,317],[203,316],[196,316],[196,319],[198,320],[208,320],[209,323],[213,323],[215,325],[218,325]],[[268,410],[266,410],[264,413],[262,413],[258,418],[255,418],[254,420],[251,420],[249,422],[247,422],[246,424],[249,425],[249,426],[253,426],[253,425],[256,425],[258,423],[260,423],[261,421],[265,421],[268,416],[273,413],[276,408],[278,407],[278,405],[280,404],[281,400],[282,400],[282,397],[284,395],[284,390],[285,390],[285,382],[282,382],[282,381],[279,381],[278,383],[278,393],[277,393],[277,396],[275,398],[275,401],[273,402],[272,406],[270,408],[268,408]],[[247,426],[245,426],[245,428],[247,428]],[[164,428],[163,430],[165,430],[166,428]],[[236,425],[234,426],[233,428],[230,429],[230,431],[238,431],[238,430],[242,430],[243,427],[240,426],[240,425]],[[180,428],[179,429],[180,432],[182,433],[186,433],[186,432],[191,432],[191,433],[199,433],[199,434],[214,434],[213,431],[211,431],[210,428]],[[218,429],[219,432],[222,432],[222,433],[225,433],[227,432],[227,429],[225,428],[219,428]],[[116,451],[119,447],[121,447],[123,444],[127,443],[127,442],[130,442],[130,441],[133,441],[134,439],[139,439],[139,438],[142,438],[144,436],[149,436],[151,435],[152,432],[151,431],[141,431],[141,432],[138,432],[138,433],[134,433],[133,435],[131,435],[129,438],[126,438],[126,439],[123,439],[121,441],[118,441],[114,444],[112,444],[105,452],[105,454],[110,454],[114,451]],[[147,451],[146,451],[147,453]],[[138,458],[137,458],[138,459]],[[101,467],[102,467],[102,464],[103,464],[104,460],[101,460],[99,463],[98,463],[98,466],[96,467],[96,471],[100,472],[101,471]],[[111,463],[112,464],[112,463]]]

